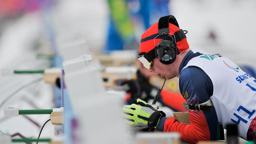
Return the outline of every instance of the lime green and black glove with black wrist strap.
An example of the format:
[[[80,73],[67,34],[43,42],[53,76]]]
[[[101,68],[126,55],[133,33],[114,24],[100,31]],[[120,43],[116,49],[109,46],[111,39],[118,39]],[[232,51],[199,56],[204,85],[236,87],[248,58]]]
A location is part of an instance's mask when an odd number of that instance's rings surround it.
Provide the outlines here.
[[[132,104],[131,108],[123,108],[123,117],[125,122],[130,125],[155,128],[162,117],[165,116],[163,111],[156,111],[147,102],[137,99],[140,105]]]

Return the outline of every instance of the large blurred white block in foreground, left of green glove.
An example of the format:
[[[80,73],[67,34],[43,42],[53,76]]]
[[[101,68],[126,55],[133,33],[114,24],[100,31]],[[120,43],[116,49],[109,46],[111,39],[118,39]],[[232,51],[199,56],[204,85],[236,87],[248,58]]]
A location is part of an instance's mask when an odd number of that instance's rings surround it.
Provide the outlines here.
[[[106,94],[100,72],[90,55],[64,61],[65,82],[78,127],[77,144],[129,143],[124,134],[122,101]]]

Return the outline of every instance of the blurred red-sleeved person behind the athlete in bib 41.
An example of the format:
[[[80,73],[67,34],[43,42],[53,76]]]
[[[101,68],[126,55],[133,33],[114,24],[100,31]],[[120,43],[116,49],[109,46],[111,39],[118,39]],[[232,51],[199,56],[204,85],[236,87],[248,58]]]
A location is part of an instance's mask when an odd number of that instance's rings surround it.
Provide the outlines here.
[[[127,95],[124,98],[125,104],[128,105],[136,103],[136,100],[138,98],[144,101],[153,100],[156,96],[158,89],[149,83],[149,78],[153,76],[154,73],[148,72],[148,69],[145,68],[139,60],[137,60],[137,62],[137,79],[126,80],[121,83],[121,85],[128,85],[128,88],[126,90]],[[171,108],[173,111],[180,111],[180,104],[186,101],[183,99],[183,97],[181,97],[180,93],[175,93],[163,89],[158,98],[158,102],[160,102],[162,106],[167,106],[168,108]],[[182,110],[184,110],[184,108]]]

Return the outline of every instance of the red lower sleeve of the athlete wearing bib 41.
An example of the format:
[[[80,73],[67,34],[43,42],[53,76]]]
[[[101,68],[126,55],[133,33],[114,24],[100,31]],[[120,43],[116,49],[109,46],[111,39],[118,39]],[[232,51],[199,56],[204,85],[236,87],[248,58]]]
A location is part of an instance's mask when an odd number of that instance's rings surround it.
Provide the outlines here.
[[[210,140],[210,131],[202,111],[189,110],[190,124],[179,123],[175,118],[169,117],[164,123],[164,132],[179,132],[180,140],[187,143]]]

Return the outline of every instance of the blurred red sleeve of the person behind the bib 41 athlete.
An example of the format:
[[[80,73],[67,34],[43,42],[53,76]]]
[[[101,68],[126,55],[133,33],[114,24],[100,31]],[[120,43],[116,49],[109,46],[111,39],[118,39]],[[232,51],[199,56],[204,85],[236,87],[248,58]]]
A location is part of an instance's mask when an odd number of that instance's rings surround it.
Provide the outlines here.
[[[165,105],[176,111],[180,111],[181,103],[186,102],[180,93],[173,93],[167,90],[162,90],[161,97]],[[182,110],[184,111],[184,108]]]

